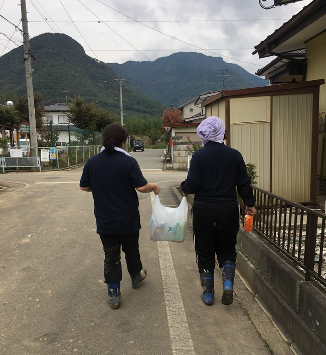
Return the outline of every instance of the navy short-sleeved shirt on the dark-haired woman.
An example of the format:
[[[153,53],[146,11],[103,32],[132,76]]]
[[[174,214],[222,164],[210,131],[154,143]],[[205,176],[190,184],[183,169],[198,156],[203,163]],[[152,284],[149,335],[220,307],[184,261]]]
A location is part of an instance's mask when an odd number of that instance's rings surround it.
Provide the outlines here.
[[[127,234],[139,230],[139,201],[135,188],[146,184],[137,161],[131,156],[104,150],[90,157],[79,186],[92,190],[96,232]]]

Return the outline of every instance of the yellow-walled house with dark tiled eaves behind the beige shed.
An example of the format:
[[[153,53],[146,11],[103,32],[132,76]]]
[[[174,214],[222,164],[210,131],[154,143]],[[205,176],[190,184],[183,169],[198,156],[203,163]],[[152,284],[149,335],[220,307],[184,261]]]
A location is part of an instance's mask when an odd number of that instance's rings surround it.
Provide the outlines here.
[[[276,56],[256,75],[270,84],[326,79],[326,0],[314,0],[255,46],[259,58]],[[317,176],[318,190],[326,193],[326,85],[319,90]]]

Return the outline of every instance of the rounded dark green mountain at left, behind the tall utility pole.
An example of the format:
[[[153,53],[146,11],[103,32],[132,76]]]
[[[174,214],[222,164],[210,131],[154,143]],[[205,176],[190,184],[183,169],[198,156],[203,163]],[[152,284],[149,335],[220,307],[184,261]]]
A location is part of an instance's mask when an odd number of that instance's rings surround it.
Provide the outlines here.
[[[30,40],[34,92],[40,92],[43,104],[63,102],[80,94],[97,100],[102,107],[120,112],[119,76],[106,65],[85,54],[83,47],[64,34],[45,33]],[[164,104],[145,97],[123,83],[123,112],[125,119],[161,115]],[[22,47],[13,49],[0,58],[1,93],[13,91],[26,94],[24,54]]]

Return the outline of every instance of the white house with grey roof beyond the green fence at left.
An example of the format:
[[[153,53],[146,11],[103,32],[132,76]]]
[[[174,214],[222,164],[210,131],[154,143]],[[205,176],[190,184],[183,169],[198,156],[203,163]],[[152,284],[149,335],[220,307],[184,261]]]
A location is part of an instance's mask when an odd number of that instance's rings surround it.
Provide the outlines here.
[[[44,124],[49,125],[52,121],[53,129],[60,131],[60,136],[58,140],[69,143],[69,120],[68,117],[65,115],[65,112],[69,111],[68,105],[58,103],[55,105],[44,106],[44,111]]]

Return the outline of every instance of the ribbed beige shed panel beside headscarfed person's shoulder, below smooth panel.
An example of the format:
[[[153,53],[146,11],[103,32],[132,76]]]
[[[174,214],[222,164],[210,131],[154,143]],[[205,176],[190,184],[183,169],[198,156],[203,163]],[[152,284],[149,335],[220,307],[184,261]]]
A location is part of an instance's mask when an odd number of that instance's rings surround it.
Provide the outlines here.
[[[245,163],[256,164],[257,186],[269,191],[270,123],[234,124],[230,127],[231,147],[240,151]]]

